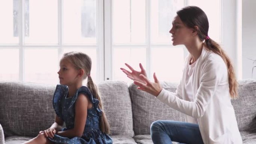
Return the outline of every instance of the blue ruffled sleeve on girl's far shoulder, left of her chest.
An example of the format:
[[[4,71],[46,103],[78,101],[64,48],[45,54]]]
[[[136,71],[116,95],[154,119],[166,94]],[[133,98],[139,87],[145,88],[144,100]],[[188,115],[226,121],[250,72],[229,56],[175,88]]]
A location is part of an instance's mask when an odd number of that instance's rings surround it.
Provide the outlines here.
[[[65,96],[68,94],[68,87],[65,85],[57,85],[54,96],[52,99],[52,105],[54,107],[55,113],[58,117],[60,117],[61,120],[63,119],[63,113],[62,113],[62,106],[63,106],[63,100],[65,99]]]

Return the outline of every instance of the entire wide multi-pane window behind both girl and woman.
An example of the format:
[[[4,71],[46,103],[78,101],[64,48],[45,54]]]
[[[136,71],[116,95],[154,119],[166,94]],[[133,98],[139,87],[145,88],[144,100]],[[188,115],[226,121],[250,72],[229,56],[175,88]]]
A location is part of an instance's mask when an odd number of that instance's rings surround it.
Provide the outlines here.
[[[0,80],[56,84],[63,53],[82,51],[95,81],[131,82],[120,67],[142,63],[150,79],[178,82],[188,53],[169,30],[186,5],[206,12],[221,42],[220,0],[1,0]]]

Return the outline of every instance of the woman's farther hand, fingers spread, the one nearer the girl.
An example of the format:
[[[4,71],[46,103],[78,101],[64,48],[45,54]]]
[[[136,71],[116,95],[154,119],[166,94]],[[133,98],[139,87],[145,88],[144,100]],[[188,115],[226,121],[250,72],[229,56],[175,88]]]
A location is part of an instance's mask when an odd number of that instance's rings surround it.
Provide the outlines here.
[[[127,75],[127,77],[129,77],[132,80],[136,80],[138,82],[146,84],[146,81],[140,77],[141,74],[144,75],[145,77],[147,77],[146,71],[144,70],[141,63],[140,63],[141,71],[135,71],[130,65],[128,65],[126,63],[125,63],[125,65],[131,70],[131,72],[129,72],[128,70],[125,70],[124,68],[120,68],[120,69]]]

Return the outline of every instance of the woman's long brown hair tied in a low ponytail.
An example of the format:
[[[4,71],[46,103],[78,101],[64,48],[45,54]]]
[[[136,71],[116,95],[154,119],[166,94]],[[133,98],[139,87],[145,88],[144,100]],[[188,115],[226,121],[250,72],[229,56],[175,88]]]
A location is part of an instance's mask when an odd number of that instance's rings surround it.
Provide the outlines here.
[[[197,6],[186,6],[179,10],[177,15],[187,27],[196,30],[195,26],[197,26],[198,30],[196,31],[199,39],[204,41],[204,45],[208,50],[222,57],[228,70],[229,94],[231,95],[231,98],[236,98],[238,96],[238,83],[235,77],[233,65],[228,55],[226,55],[220,45],[208,37],[209,22],[204,11]]]

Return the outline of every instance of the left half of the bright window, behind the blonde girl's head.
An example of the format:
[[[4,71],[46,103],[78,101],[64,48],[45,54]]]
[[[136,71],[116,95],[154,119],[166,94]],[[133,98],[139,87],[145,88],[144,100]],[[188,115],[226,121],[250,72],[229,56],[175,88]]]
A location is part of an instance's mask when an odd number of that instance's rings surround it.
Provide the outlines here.
[[[99,5],[97,0],[1,0],[0,80],[56,84],[60,57],[74,50],[91,56],[91,75],[98,80]]]

